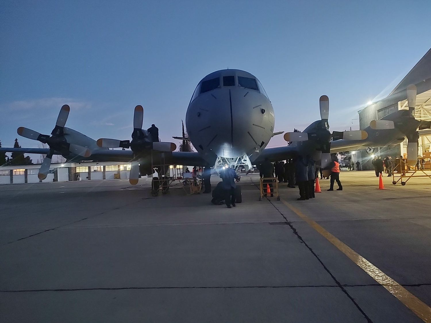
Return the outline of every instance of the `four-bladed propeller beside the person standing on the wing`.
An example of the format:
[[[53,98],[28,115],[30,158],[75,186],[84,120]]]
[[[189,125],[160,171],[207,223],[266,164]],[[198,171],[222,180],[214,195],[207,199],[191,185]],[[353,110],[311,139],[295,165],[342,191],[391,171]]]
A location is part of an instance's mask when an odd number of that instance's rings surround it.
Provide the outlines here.
[[[117,140],[100,138],[97,140],[97,146],[104,148],[130,148],[133,151],[133,160],[130,167],[129,182],[136,185],[139,179],[139,162],[136,160],[142,153],[151,150],[157,152],[173,152],[177,149],[175,143],[153,142],[151,135],[147,130],[142,130],[144,122],[144,108],[136,106],[133,114],[133,132],[132,140]]]

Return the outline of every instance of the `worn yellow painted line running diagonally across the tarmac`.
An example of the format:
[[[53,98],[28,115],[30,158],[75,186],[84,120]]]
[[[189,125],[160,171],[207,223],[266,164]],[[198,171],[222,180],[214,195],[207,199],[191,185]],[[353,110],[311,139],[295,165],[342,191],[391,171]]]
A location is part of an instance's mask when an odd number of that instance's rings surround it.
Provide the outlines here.
[[[331,242],[334,246],[336,246],[341,252],[344,253],[347,257],[350,258],[355,264],[361,267],[365,273],[368,273],[376,282],[381,284],[388,292],[398,298],[404,305],[409,307],[409,309],[415,313],[419,318],[421,318],[424,322],[431,323],[431,307],[417,298],[415,295],[410,293],[407,289],[397,283],[395,280],[387,276],[383,271],[378,269],[371,262],[366,260],[364,257],[359,255],[353,249],[351,249],[348,245],[341,242],[331,233],[326,231],[323,227],[317,224],[315,221],[311,220],[305,214],[303,214],[300,210],[295,208],[293,205],[290,205],[283,199],[281,202],[284,203],[290,210],[294,211],[301,219],[306,221],[314,230],[319,232],[322,236],[324,236],[329,242]]]

